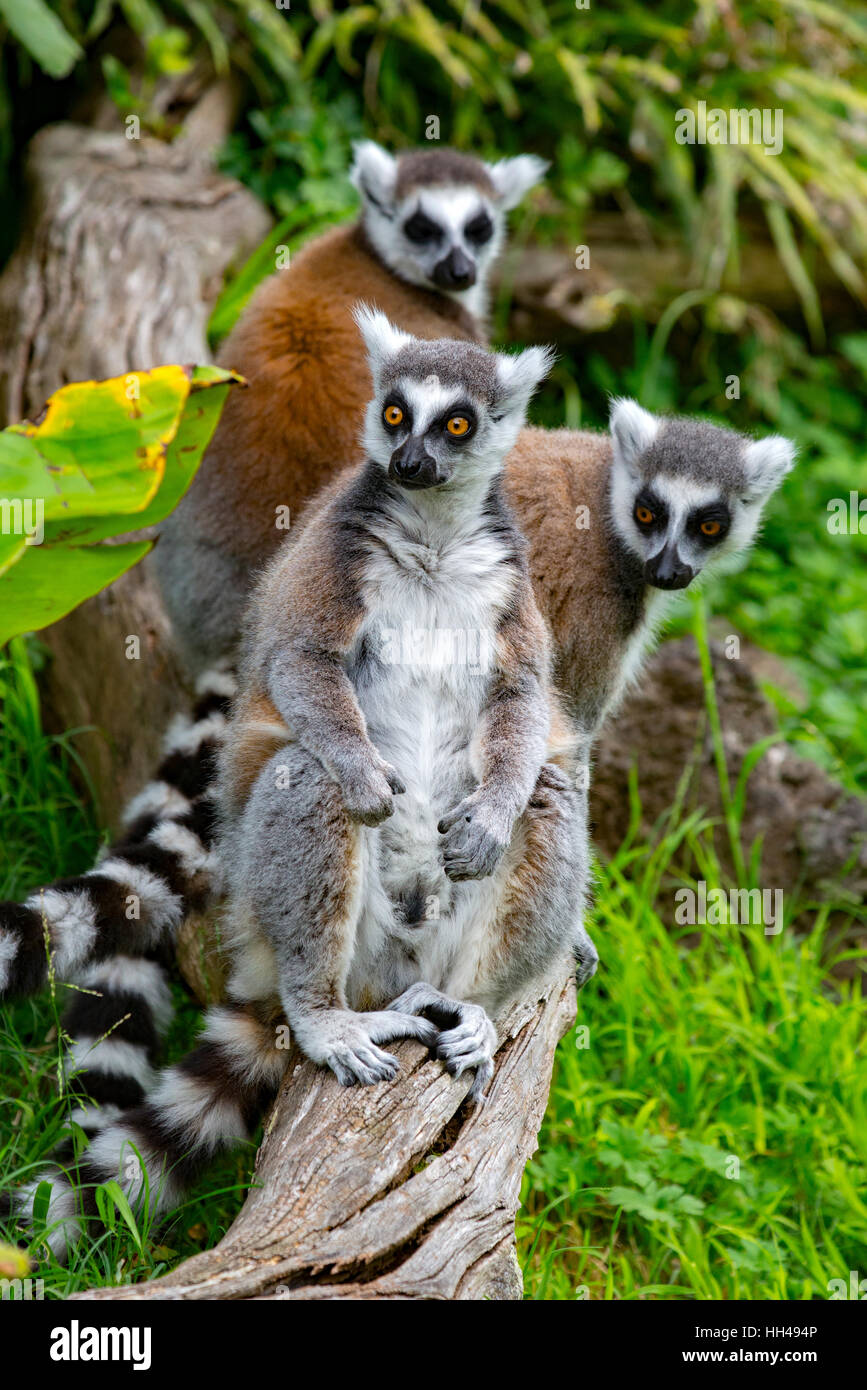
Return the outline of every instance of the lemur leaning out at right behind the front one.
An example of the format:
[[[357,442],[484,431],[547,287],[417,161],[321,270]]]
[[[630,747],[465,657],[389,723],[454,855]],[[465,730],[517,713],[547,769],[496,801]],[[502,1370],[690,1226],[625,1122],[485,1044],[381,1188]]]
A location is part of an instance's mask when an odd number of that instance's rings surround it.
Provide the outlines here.
[[[531,549],[554,673],[588,739],[671,606],[671,591],[732,564],[795,461],[779,435],[611,403],[609,434],[522,430],[506,481]]]

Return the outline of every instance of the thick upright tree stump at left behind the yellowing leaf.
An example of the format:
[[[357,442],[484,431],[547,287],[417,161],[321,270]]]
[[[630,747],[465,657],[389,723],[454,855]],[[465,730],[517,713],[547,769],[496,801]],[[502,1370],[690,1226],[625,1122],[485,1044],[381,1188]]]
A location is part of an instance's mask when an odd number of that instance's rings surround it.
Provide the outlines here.
[[[213,113],[214,121],[218,114]],[[0,423],[33,416],[68,381],[208,361],[207,321],[226,271],[270,217],[192,140],[126,140],[46,126],[28,160],[25,234],[0,278]],[[126,637],[140,659],[126,659]],[[182,695],[147,563],[40,634],[50,723],[88,728],[81,755],[103,821],[154,767]]]

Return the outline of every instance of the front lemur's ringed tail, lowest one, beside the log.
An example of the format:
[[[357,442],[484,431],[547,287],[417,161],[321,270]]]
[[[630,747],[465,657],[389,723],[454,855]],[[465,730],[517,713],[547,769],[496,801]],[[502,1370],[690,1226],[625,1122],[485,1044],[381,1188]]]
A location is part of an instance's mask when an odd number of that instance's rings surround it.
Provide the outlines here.
[[[278,1022],[256,1005],[210,1009],[199,1047],[160,1073],[143,1104],[100,1129],[78,1158],[69,1144],[58,1166],[11,1195],[17,1220],[32,1220],[36,1190],[49,1180],[46,1238],[63,1259],[96,1220],[103,1183],[115,1180],[151,1220],[176,1207],[211,1158],[250,1138],[276,1095],[289,1058]]]

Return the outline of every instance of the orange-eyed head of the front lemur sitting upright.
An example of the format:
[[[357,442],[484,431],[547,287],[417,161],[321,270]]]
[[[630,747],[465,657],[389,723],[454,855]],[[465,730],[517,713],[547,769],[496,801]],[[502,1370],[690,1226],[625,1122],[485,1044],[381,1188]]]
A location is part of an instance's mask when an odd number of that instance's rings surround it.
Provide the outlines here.
[[[446,338],[427,342],[367,306],[356,322],[375,391],[364,425],[368,457],[413,492],[496,477],[550,352],[528,348],[510,357]]]

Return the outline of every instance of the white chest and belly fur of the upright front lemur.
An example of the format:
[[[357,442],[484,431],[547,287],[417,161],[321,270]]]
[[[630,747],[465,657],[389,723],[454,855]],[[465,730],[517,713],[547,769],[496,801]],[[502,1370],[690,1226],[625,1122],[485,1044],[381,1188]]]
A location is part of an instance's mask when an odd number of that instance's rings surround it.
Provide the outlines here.
[[[361,581],[367,616],[347,660],[368,737],[406,785],[395,813],[365,835],[382,895],[372,897],[360,933],[363,955],[388,951],[399,984],[446,983],[471,930],[471,913],[456,916],[459,899],[465,909],[485,895],[484,884],[449,881],[436,826],[481,780],[474,737],[514,591],[509,546],[479,499],[457,523],[425,503],[403,495],[372,528]],[[360,974],[368,973],[365,960]]]

